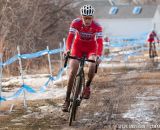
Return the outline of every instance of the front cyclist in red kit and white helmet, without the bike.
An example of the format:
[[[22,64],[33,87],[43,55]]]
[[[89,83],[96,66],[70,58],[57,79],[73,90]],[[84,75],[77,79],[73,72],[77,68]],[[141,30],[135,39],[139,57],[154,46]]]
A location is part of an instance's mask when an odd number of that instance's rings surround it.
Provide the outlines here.
[[[94,7],[91,5],[84,5],[80,8],[81,17],[72,21],[69,29],[69,34],[66,40],[66,51],[64,54],[70,52],[72,56],[81,58],[86,54],[88,59],[98,59],[103,50],[103,36],[102,27],[94,20]],[[100,59],[97,60],[99,64]],[[70,59],[70,71],[67,84],[66,98],[62,107],[62,111],[67,112],[70,104],[70,94],[76,76],[79,61]],[[83,90],[85,99],[90,97],[90,84],[95,74],[95,63],[89,63],[88,79],[86,87]]]

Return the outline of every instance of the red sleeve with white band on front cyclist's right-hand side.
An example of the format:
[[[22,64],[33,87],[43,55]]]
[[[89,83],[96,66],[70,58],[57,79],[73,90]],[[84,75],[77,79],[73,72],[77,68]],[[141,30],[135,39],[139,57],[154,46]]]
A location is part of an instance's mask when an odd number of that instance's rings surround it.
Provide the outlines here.
[[[99,26],[96,32],[96,41],[97,41],[97,55],[101,56],[103,51],[103,33],[102,27]]]

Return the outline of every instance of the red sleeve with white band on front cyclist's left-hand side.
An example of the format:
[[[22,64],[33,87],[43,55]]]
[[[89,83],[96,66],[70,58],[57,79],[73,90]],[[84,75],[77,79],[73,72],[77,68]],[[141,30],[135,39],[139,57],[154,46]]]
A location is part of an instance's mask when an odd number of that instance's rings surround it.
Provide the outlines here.
[[[72,23],[70,24],[69,33],[66,40],[66,50],[71,49],[76,32],[77,32],[76,20],[73,20]]]

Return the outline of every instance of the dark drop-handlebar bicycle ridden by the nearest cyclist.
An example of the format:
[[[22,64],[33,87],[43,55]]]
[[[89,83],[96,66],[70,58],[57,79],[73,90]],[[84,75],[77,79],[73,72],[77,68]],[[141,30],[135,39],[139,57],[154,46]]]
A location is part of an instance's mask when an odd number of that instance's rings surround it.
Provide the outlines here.
[[[64,67],[67,66],[67,61],[68,59],[76,59],[79,60],[79,68],[73,83],[73,87],[72,87],[72,93],[71,93],[71,98],[70,98],[70,106],[69,106],[69,126],[71,126],[72,121],[75,121],[75,117],[76,117],[76,112],[78,109],[78,106],[80,106],[82,99],[83,99],[83,89],[85,86],[85,75],[84,75],[84,64],[85,62],[92,62],[92,63],[96,63],[97,61],[95,60],[89,60],[86,58],[86,55],[83,55],[82,58],[78,58],[78,57],[74,57],[74,56],[70,56],[70,54],[68,53],[67,56],[65,57],[65,63],[64,63]],[[97,59],[96,59],[97,60]],[[96,69],[95,69],[95,73],[97,73],[97,68],[98,68],[98,64],[96,64]]]

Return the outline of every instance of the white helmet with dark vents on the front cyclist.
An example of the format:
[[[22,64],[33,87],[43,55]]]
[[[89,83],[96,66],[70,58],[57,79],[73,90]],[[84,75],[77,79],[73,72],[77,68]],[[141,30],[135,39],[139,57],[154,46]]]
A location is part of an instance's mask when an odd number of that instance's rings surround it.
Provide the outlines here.
[[[93,16],[94,11],[95,9],[91,5],[84,5],[80,8],[80,13],[82,16]]]

